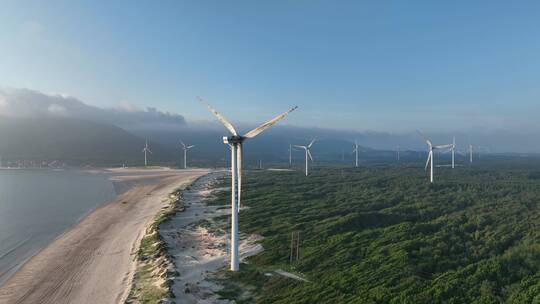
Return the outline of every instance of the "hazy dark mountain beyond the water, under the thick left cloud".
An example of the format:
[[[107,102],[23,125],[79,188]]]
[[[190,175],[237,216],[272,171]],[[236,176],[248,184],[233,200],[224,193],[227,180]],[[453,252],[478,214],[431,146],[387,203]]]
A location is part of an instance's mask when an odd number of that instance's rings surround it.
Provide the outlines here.
[[[142,164],[144,139],[113,125],[75,119],[0,117],[0,155],[4,160],[62,160],[73,164]],[[172,153],[151,144],[152,161]]]

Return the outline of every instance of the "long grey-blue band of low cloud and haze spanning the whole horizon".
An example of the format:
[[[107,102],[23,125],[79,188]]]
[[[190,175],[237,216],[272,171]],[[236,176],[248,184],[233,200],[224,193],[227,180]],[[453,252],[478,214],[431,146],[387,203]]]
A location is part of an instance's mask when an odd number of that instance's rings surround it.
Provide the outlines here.
[[[148,137],[152,141],[171,147],[178,146],[179,139],[191,141],[198,146],[207,146],[211,150],[221,149],[221,137],[228,131],[208,114],[205,121],[186,121],[184,116],[159,111],[156,108],[141,109],[122,101],[114,108],[100,108],[88,105],[76,97],[58,93],[42,93],[29,89],[3,89],[0,87],[0,118],[70,118],[105,123],[130,131],[141,138]],[[239,131],[250,130],[255,125],[235,122]],[[485,152],[540,152],[539,132],[534,128],[515,128],[487,130],[446,130],[435,128],[422,129],[435,143],[448,144],[456,136],[458,149],[465,150],[469,144],[478,146]],[[397,146],[404,150],[426,149],[425,143],[415,132],[377,132],[352,131],[317,128],[308,126],[290,126],[278,124],[265,131],[263,136],[253,140],[252,151],[263,154],[269,145],[288,147],[288,143],[309,142],[312,138],[320,140],[338,140],[353,142],[359,140],[364,147],[379,150],[394,150]],[[350,146],[350,144],[349,144]],[[347,146],[347,147],[349,147]],[[336,151],[348,149],[335,145]],[[350,147],[349,147],[350,148]],[[260,149],[258,151],[257,149]]]

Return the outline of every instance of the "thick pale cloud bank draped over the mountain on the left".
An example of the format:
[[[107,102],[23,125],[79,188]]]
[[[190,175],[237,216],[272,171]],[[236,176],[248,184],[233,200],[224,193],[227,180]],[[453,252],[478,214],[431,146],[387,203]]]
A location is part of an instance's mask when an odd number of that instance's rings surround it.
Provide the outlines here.
[[[12,88],[0,88],[0,116],[83,119],[128,130],[174,130],[186,125],[182,115],[161,112],[152,107],[140,109],[127,101],[116,108],[99,108],[65,94]]]

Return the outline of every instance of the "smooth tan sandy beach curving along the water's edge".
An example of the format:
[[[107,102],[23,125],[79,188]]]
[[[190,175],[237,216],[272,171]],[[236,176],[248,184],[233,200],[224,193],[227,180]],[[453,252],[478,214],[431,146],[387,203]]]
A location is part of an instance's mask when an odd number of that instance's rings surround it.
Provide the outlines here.
[[[129,292],[133,252],[146,227],[168,204],[169,193],[206,173],[167,170],[156,177],[156,172],[151,184],[138,184],[96,209],[5,282],[0,303],[121,302]]]

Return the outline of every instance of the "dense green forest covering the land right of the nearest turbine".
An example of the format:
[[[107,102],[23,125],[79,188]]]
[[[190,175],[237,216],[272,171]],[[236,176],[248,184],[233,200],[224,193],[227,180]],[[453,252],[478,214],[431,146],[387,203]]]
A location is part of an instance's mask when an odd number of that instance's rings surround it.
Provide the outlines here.
[[[540,303],[540,164],[523,164],[437,168],[434,185],[419,164],[246,172],[240,231],[265,250],[221,295],[239,297],[234,283],[257,303]]]

